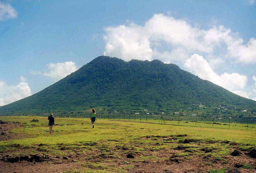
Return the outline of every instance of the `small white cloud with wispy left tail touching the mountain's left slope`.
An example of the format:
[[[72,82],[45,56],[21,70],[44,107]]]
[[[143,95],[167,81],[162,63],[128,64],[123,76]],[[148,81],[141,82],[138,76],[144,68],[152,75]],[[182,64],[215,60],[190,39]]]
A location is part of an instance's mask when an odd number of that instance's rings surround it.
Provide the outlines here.
[[[50,64],[47,64],[46,66],[47,66],[46,72],[31,71],[31,74],[43,75],[43,76],[52,78],[55,82],[57,82],[60,79],[71,74],[72,72],[78,70],[78,67],[72,61],[67,61],[63,63],[50,63]]]

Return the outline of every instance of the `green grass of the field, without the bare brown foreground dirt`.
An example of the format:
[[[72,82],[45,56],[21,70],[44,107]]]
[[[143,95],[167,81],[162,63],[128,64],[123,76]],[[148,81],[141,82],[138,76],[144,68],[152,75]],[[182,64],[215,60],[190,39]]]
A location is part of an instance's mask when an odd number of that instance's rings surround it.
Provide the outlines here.
[[[209,128],[212,124],[206,123],[198,123],[203,127],[194,127],[194,122],[183,121],[180,125],[186,126],[98,119],[93,129],[89,119],[56,118],[53,134],[49,134],[47,117],[11,116],[0,119],[18,124],[18,127],[9,130],[9,139],[0,141],[1,157],[6,154],[49,154],[52,158],[73,158],[72,164],[79,165],[78,168],[60,169],[62,172],[136,172],[143,168],[144,162],[166,163],[174,154],[180,159],[178,162],[186,164],[193,159],[209,157],[211,161],[204,165],[207,171],[214,172],[214,165],[220,164],[225,172],[231,169],[225,164],[228,164],[232,150],[248,152],[256,148],[256,131],[253,127],[247,130],[244,124],[222,129]],[[39,121],[31,122],[32,119]],[[148,122],[158,123],[159,120]],[[179,147],[181,149],[177,149]],[[129,152],[135,156],[132,160],[126,160]],[[168,152],[171,153],[164,154]],[[92,153],[95,158],[91,158]],[[250,161],[245,159],[243,164],[248,170],[253,170],[255,165]],[[71,161],[66,164],[71,164]],[[136,167],[136,164],[139,166]],[[241,169],[247,168],[243,166]]]

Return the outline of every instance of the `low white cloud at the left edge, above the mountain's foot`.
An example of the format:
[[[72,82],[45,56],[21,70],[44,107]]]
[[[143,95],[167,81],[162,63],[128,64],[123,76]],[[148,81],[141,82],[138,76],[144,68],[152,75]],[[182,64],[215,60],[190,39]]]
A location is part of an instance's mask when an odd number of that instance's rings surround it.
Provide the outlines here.
[[[31,90],[26,82],[18,85],[8,85],[0,81],[0,106],[18,101],[31,95]]]

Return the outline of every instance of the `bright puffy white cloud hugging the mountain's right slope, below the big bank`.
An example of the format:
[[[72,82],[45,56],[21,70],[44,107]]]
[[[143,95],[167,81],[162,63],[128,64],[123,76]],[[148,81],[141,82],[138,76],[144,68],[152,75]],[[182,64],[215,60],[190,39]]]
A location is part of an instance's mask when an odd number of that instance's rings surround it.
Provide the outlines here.
[[[218,75],[210,67],[209,63],[198,54],[192,55],[191,58],[184,63],[184,67],[202,79],[222,86],[237,95],[249,98],[247,92],[244,91],[248,81],[247,76],[238,73],[223,73]]]

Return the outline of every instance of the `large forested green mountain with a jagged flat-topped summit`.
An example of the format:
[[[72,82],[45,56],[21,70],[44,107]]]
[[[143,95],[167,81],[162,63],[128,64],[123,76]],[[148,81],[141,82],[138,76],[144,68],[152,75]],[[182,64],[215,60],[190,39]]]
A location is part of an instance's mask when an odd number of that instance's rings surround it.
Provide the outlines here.
[[[0,114],[106,108],[180,110],[191,104],[255,110],[256,102],[159,60],[125,62],[99,56],[59,82],[14,103]]]

